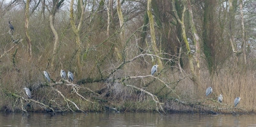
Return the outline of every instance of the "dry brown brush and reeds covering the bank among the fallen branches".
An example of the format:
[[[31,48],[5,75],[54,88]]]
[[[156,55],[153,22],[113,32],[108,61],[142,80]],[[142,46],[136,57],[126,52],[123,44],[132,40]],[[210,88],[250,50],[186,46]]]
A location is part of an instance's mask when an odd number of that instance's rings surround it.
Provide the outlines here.
[[[15,27],[14,34],[20,34],[22,39],[24,39],[23,12],[16,11],[15,13],[12,12],[12,14],[10,18],[13,20],[13,26]],[[58,47],[58,53],[56,54],[56,59],[58,60],[55,61],[54,66],[49,66],[49,63],[51,63],[54,38],[51,28],[49,27],[49,19],[46,17],[44,20],[38,20],[36,15],[31,15],[29,25],[29,33],[31,34],[33,45],[33,57],[29,59],[26,50],[26,41],[24,39],[17,47],[17,55],[14,57],[15,64],[13,64],[12,56],[14,50],[0,59],[0,110],[19,111],[21,108],[20,100],[12,96],[11,93],[26,97],[22,89],[23,87],[29,87],[29,89],[31,89],[33,100],[52,105],[52,107],[61,105],[61,108],[66,109],[67,102],[63,100],[56,91],[53,91],[51,87],[46,85],[44,75],[42,74],[42,71],[47,70],[51,78],[58,81],[60,80],[61,69],[66,72],[68,70],[72,71],[75,76],[75,83],[86,78],[90,78],[92,81],[95,79],[105,81],[81,84],[83,89],[80,89],[79,93],[83,95],[84,98],[94,103],[84,101],[74,94],[72,87],[65,85],[54,86],[54,88],[65,94],[67,98],[77,103],[82,110],[102,111],[105,105],[108,107],[116,107],[123,111],[152,112],[156,110],[156,103],[148,94],[138,89],[127,87],[122,84],[122,82],[113,82],[113,79],[116,80],[136,75],[150,75],[150,70],[156,61],[155,57],[145,56],[130,63],[126,63],[122,68],[115,71],[113,75],[107,77],[111,71],[123,62],[123,59],[120,59],[116,54],[124,55],[125,61],[129,61],[129,59],[140,54],[138,47],[139,35],[138,33],[134,34],[134,31],[136,31],[141,24],[135,23],[126,26],[129,28],[127,29],[127,33],[125,33],[125,35],[127,35],[126,38],[132,37],[127,41],[124,50],[122,50],[122,45],[119,45],[119,34],[113,34],[111,37],[107,36],[106,28],[99,27],[99,22],[96,21],[92,22],[92,24],[84,25],[84,29],[81,31],[82,73],[77,73],[77,61],[75,61],[77,48],[76,39],[68,19],[65,18],[67,12],[58,13],[57,15],[58,18],[56,18],[54,26],[59,34],[60,45]],[[8,31],[8,17],[0,19],[0,29],[4,31],[3,34],[0,34],[0,40],[2,42],[0,44],[0,54],[3,54],[5,50],[8,50],[14,45],[12,40],[10,40],[10,34],[6,34]],[[115,33],[115,31],[118,30],[118,28],[113,27],[111,33]],[[145,49],[145,51],[150,54],[152,53],[150,42],[147,44],[148,48]],[[115,45],[115,47],[113,47],[113,45]],[[87,47],[89,47],[89,49],[86,49]],[[115,48],[118,50],[115,50]],[[249,61],[253,61],[253,58]],[[233,107],[234,99],[239,96],[241,97],[241,101],[237,107],[243,108],[248,112],[254,111],[254,100],[256,96],[255,84],[253,84],[255,80],[253,69],[244,69],[242,71],[239,66],[227,62],[223,65],[218,74],[211,77],[202,62],[200,63],[202,64],[199,78],[200,83],[198,87],[196,87],[190,79],[189,68],[186,67],[188,66],[186,61],[184,61],[184,63],[183,75],[175,66],[172,66],[170,61],[164,61],[164,68],[157,70],[155,76],[168,84],[170,88],[153,77],[125,80],[124,83],[143,88],[155,94],[159,98],[159,101],[164,103],[163,107],[166,110],[186,112],[200,110],[189,105],[182,105],[177,102],[176,99],[191,103],[192,105],[198,104],[198,101],[200,101],[205,105],[215,107]],[[253,65],[250,65],[250,67],[253,68]],[[210,86],[213,92],[206,98],[205,90]],[[217,100],[217,96],[220,94],[223,95],[223,104],[225,105],[207,100],[209,98]],[[72,107],[72,109],[76,110],[75,107]],[[44,111],[46,109],[41,105],[31,103],[31,107],[28,108],[28,110]],[[223,110],[223,112],[229,112],[229,110]]]

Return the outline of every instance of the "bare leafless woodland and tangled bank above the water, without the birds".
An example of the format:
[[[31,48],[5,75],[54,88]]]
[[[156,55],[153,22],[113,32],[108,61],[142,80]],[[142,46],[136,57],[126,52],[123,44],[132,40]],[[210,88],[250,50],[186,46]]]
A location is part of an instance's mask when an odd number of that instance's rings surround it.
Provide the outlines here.
[[[254,112],[255,8],[253,0],[1,0],[0,109]]]

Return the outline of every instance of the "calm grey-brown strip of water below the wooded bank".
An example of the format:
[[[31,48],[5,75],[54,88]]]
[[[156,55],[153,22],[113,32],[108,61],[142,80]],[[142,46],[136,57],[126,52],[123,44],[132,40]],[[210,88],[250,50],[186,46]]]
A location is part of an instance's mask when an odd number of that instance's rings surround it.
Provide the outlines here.
[[[255,115],[200,116],[199,114],[89,113],[0,114],[1,126],[256,126]]]

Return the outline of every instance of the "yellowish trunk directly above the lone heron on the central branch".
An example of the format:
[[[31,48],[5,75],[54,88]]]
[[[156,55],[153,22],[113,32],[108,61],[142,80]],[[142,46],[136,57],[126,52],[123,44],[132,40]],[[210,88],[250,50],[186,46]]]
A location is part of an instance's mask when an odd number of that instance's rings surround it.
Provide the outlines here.
[[[149,27],[150,27],[150,36],[152,41],[152,47],[154,50],[154,54],[159,55],[159,50],[157,49],[156,45],[156,34],[155,34],[155,27],[154,27],[154,19],[152,15],[152,0],[148,0],[147,3],[147,14],[148,14],[148,21],[149,21]],[[161,62],[161,59],[157,57],[157,63],[159,64],[159,68],[163,68],[163,64]]]

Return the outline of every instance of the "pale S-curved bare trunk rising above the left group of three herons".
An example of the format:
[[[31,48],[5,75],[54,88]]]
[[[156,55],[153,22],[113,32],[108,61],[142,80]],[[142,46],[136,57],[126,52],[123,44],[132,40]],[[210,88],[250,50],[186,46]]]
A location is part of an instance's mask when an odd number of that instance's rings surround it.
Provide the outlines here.
[[[55,41],[54,41],[54,48],[53,48],[53,52],[52,52],[52,63],[51,63],[51,66],[53,67],[53,63],[54,63],[54,60],[55,60],[55,56],[56,56],[56,53],[57,53],[57,49],[58,49],[58,45],[59,45],[59,36],[58,36],[58,33],[57,31],[54,29],[54,26],[53,26],[53,15],[50,14],[50,26],[51,26],[51,29],[52,29],[52,33],[54,34],[54,37],[55,37]]]

